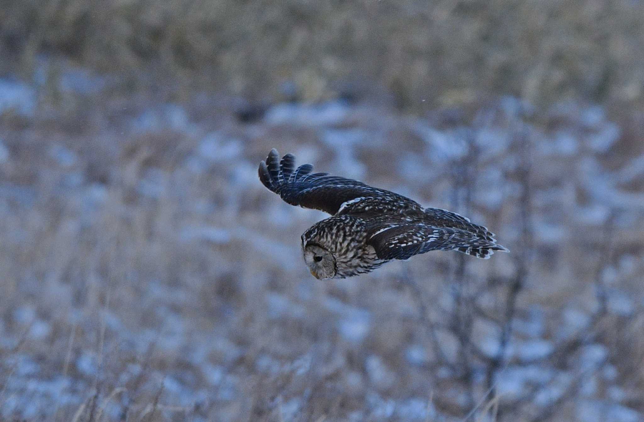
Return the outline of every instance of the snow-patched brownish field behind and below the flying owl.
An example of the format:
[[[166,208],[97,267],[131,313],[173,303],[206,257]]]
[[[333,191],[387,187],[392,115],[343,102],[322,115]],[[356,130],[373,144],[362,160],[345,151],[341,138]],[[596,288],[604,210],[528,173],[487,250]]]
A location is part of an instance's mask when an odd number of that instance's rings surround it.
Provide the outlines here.
[[[240,122],[230,99],[89,101],[109,81],[83,72],[59,89],[0,80],[0,418],[644,419],[644,145],[600,106]],[[299,236],[325,215],[260,184],[270,148],[512,252],[319,282]]]

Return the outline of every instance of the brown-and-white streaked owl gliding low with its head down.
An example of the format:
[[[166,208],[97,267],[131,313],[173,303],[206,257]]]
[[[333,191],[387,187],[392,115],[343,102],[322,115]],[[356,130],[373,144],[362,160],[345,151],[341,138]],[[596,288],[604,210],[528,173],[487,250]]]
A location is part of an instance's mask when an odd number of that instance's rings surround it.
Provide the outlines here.
[[[498,245],[494,233],[469,218],[440,208],[424,208],[410,198],[350,178],[295,168],[295,157],[279,159],[271,149],[260,162],[264,186],[285,202],[331,216],[302,235],[304,261],[319,280],[364,274],[391,260],[429,251],[459,251],[488,259]]]

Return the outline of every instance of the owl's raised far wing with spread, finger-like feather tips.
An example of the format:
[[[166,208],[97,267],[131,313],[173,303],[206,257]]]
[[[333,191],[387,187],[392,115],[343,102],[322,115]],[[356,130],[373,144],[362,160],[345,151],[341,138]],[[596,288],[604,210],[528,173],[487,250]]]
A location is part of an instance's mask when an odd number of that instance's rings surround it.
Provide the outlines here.
[[[397,193],[377,189],[350,178],[311,173],[312,170],[311,164],[295,168],[294,155],[287,154],[280,160],[278,151],[271,149],[266,161],[260,162],[259,175],[264,186],[277,193],[285,202],[319,209],[331,215],[352,209],[359,211],[365,209],[365,204],[375,201],[413,203],[418,206]]]

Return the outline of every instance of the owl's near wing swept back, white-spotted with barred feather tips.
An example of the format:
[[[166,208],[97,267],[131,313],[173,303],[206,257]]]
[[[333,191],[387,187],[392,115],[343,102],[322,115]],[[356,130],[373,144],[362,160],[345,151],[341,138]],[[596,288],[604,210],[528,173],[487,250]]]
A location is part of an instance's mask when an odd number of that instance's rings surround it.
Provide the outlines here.
[[[469,223],[471,224],[471,223]],[[481,226],[477,226],[481,227]],[[489,233],[489,232],[486,232]],[[437,225],[391,223],[374,229],[367,241],[381,260],[406,260],[429,251],[455,250],[477,258],[488,259],[494,251],[507,249],[491,236],[474,231]]]

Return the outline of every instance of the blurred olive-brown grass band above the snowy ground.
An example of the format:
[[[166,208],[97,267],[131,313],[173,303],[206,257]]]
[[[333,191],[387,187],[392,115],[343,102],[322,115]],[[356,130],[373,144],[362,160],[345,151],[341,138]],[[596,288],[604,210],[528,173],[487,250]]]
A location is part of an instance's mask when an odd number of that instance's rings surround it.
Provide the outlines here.
[[[10,1],[0,47],[26,78],[62,55],[179,99],[276,98],[288,81],[307,100],[384,88],[417,112],[498,94],[641,111],[642,21],[623,0]]]

